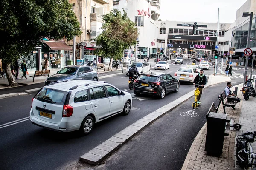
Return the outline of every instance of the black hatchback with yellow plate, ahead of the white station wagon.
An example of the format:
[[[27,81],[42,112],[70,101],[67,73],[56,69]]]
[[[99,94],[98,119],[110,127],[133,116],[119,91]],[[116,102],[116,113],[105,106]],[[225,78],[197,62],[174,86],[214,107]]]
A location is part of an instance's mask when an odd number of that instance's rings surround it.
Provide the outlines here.
[[[171,92],[178,92],[180,88],[179,80],[172,77],[171,74],[164,72],[146,72],[141,74],[134,80],[134,94],[151,94],[159,96],[163,99],[164,96]]]

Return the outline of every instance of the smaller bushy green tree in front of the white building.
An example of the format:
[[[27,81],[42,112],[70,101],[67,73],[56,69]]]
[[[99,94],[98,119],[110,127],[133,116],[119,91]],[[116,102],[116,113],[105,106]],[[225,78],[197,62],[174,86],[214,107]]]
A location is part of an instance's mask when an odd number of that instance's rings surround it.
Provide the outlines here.
[[[103,16],[102,33],[95,38],[97,55],[111,58],[108,70],[112,70],[113,59],[121,59],[124,49],[136,44],[139,35],[138,28],[132,22],[126,12],[123,15],[118,9],[113,9]]]

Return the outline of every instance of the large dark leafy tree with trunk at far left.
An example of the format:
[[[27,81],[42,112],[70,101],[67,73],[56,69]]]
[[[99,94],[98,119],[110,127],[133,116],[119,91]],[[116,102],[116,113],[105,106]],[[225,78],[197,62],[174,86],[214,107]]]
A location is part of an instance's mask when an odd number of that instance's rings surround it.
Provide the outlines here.
[[[1,0],[0,6],[0,59],[8,86],[18,85],[10,64],[20,56],[28,56],[43,38],[71,40],[81,35],[68,0]]]

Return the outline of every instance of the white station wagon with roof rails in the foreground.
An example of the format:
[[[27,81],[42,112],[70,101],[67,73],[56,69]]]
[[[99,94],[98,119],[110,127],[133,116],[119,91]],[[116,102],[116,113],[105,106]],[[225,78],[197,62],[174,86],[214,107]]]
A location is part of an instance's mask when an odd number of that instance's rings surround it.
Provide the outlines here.
[[[95,123],[128,115],[131,106],[131,94],[107,82],[72,79],[41,88],[32,99],[30,120],[50,130],[89,134]]]

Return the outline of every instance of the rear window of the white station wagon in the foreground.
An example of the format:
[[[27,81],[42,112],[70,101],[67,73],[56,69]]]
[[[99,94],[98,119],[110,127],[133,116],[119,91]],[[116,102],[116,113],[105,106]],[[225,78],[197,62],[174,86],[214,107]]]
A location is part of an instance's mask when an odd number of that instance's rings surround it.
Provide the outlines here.
[[[35,96],[35,99],[42,102],[63,105],[65,102],[66,96],[67,96],[66,91],[57,91],[49,88],[42,88],[41,91]]]

